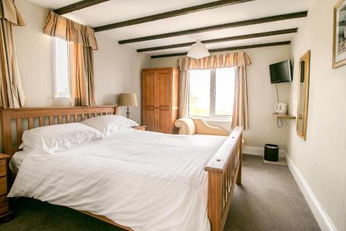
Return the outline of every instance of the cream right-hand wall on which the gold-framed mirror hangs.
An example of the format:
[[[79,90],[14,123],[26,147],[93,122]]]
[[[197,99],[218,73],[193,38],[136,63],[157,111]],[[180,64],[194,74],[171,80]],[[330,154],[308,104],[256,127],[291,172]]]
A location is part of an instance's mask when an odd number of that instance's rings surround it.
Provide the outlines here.
[[[295,60],[290,110],[297,106],[298,63],[311,50],[307,141],[289,124],[288,154],[307,182],[329,228],[346,230],[346,66],[331,68],[333,7],[338,0],[315,0],[292,44]],[[310,196],[311,196],[310,195]],[[313,209],[314,210],[314,209]],[[315,213],[316,214],[316,213]],[[327,225],[316,214],[322,229]],[[333,225],[334,224],[334,225]]]

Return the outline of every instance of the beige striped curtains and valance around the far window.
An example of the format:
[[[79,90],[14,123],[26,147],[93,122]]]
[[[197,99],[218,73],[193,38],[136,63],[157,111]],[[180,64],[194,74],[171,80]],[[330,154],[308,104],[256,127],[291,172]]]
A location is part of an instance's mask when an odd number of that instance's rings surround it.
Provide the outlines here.
[[[236,67],[235,72],[235,100],[233,107],[232,128],[242,126],[245,130],[248,129],[248,93],[246,86],[246,67],[251,65],[251,60],[247,53],[227,53],[221,55],[210,55],[206,58],[181,58],[179,59],[179,68],[181,70],[181,81],[188,83],[185,80],[185,73],[192,69],[216,69],[223,67]],[[188,78],[188,77],[187,77]],[[188,108],[188,84],[181,84],[179,107],[183,108],[183,112],[179,115],[181,117],[187,116]],[[181,110],[182,111],[182,110]]]

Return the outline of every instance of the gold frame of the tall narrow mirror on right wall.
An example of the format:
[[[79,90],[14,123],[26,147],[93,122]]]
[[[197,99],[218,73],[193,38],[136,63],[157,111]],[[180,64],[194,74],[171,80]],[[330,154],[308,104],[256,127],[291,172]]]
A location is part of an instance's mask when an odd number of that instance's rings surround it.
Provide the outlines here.
[[[304,64],[304,100],[303,107],[302,107],[302,114],[300,114],[299,108],[300,108],[300,83],[301,83],[301,75],[302,75],[302,62],[305,62]],[[307,140],[307,109],[308,109],[308,103],[309,103],[309,78],[310,78],[310,51],[307,51],[307,53],[304,53],[299,61],[299,78],[298,78],[298,104],[297,104],[297,119],[296,119],[296,130],[297,135]],[[299,130],[299,120],[302,118],[302,130]]]

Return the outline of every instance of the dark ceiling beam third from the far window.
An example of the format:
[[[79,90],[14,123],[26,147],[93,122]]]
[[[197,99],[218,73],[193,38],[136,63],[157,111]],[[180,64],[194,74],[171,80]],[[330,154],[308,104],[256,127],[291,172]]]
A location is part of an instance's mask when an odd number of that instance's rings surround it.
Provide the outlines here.
[[[206,27],[200,27],[200,28],[194,28],[186,31],[176,31],[172,33],[164,33],[160,35],[150,35],[145,37],[137,37],[134,39],[129,40],[120,40],[119,44],[127,44],[127,43],[133,43],[133,42],[143,42],[143,41],[149,41],[149,40],[158,40],[166,37],[175,37],[175,36],[181,36],[181,35],[190,35],[194,33],[202,33],[202,32],[208,32],[208,31],[216,31],[226,28],[235,28],[239,26],[249,26],[249,25],[255,25],[255,24],[264,24],[266,22],[276,22],[276,21],[282,21],[282,20],[288,20],[288,19],[296,19],[300,17],[307,17],[307,11],[303,12],[294,12],[291,14],[286,15],[275,15],[271,17],[262,17],[259,19],[250,19],[246,21],[240,21],[240,22],[231,22],[228,24],[219,24],[215,26],[206,26]]]

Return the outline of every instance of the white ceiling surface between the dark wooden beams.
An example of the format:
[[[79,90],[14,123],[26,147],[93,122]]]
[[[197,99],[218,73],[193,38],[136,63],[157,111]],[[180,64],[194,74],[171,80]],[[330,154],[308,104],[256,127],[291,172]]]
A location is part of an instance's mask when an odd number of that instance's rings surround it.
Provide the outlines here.
[[[80,0],[30,0],[39,6],[49,9],[57,9],[68,6]],[[293,12],[308,10],[312,0],[255,0],[246,3],[239,3],[231,6],[214,8],[193,12],[187,15],[160,19],[153,22],[125,26],[111,29],[109,31],[100,31],[104,35],[112,37],[114,40],[128,40],[136,37],[183,31],[204,26],[213,26],[217,24],[226,24],[230,22],[239,22],[248,19],[257,19],[270,17],[274,15],[283,15]],[[76,22],[87,26],[103,26],[115,22],[122,22],[138,17],[145,17],[170,10],[178,10],[190,6],[201,5],[212,2],[211,0],[110,0],[99,3],[95,6],[76,10],[64,15]],[[190,35],[181,35],[176,37],[166,37],[158,40],[149,40],[143,42],[134,42],[122,44],[122,46],[131,46],[134,49],[143,49],[153,46],[165,46],[180,44],[185,42],[195,42],[196,40],[210,40],[222,37],[231,37],[237,35],[247,35],[253,33],[263,33],[268,31],[284,30],[289,28],[298,28],[304,17],[298,19],[282,20],[277,22],[268,22],[251,26],[240,26],[235,28],[226,28],[216,31],[203,33],[194,33]],[[246,40],[235,40],[228,42],[217,42],[206,44],[208,49],[219,49],[230,46],[245,46],[251,44],[260,44],[268,42],[290,41],[293,33],[285,35],[273,35],[268,37],[256,37]],[[162,55],[167,53],[187,52],[189,46],[163,49],[158,51],[147,51],[149,55]]]

